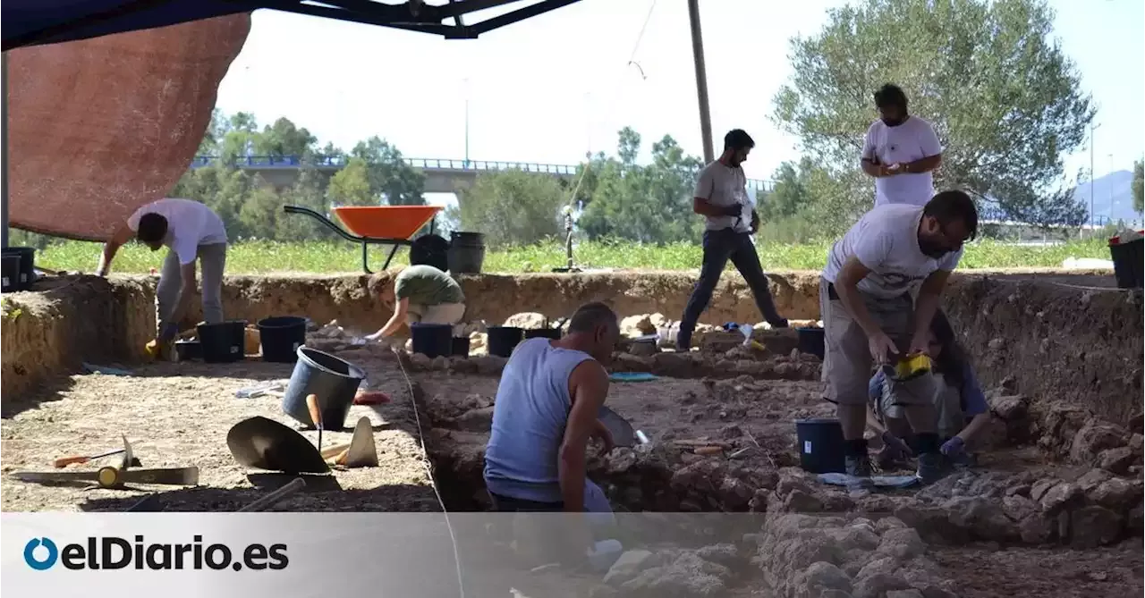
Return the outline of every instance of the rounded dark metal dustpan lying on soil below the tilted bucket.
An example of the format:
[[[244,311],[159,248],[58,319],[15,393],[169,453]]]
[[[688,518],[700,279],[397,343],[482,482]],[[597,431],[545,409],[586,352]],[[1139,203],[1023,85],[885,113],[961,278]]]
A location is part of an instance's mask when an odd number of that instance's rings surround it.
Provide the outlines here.
[[[283,473],[325,473],[326,460],[305,436],[274,420],[254,416],[227,432],[227,448],[239,464]]]

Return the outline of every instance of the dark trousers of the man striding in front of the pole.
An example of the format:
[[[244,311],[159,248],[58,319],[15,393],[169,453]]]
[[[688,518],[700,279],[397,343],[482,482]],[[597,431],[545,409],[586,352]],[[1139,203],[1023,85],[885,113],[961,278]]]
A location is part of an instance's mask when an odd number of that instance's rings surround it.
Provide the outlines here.
[[[751,233],[735,232],[734,229],[704,231],[703,247],[704,263],[700,270],[700,280],[696,281],[692,297],[688,298],[688,305],[684,309],[677,344],[690,344],[696,321],[700,319],[700,314],[708,309],[708,303],[712,300],[712,292],[716,290],[716,285],[719,282],[719,277],[724,273],[728,260],[748,282],[748,288],[756,297],[756,305],[764,314],[764,319],[772,325],[783,321],[783,318],[775,311],[772,292],[767,288],[767,274],[764,274],[764,269],[759,265],[759,255],[756,254],[756,246],[751,242]]]

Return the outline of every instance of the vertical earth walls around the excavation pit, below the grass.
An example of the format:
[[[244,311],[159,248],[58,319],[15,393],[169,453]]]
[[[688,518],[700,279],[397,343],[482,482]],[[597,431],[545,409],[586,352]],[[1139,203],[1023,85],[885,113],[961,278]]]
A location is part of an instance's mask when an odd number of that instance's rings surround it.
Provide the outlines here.
[[[382,274],[386,276],[386,274]],[[771,274],[779,309],[792,319],[819,316],[818,272]],[[26,390],[81,361],[141,357],[153,336],[155,277],[48,279],[37,293],[7,295],[0,317],[0,397]],[[1145,410],[1145,294],[1111,288],[1112,276],[1061,270],[958,273],[946,309],[964,334],[987,385],[1011,378],[1025,394],[1067,399],[1112,421]],[[467,320],[502,322],[519,312],[556,319],[589,301],[622,316],[661,312],[679,318],[694,284],[686,272],[464,276]],[[318,324],[372,330],[389,306],[365,276],[228,277],[228,318],[307,316]],[[197,305],[197,302],[196,302]],[[18,309],[17,316],[14,310]],[[3,311],[3,310],[0,310]],[[198,308],[188,324],[198,321]],[[702,320],[759,321],[743,279],[727,273]]]

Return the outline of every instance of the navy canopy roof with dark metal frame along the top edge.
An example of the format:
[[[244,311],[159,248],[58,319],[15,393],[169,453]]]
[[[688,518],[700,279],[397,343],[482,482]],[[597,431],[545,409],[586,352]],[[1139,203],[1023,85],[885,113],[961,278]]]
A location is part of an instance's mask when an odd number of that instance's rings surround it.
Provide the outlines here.
[[[260,8],[472,39],[578,0],[443,1],[445,3],[428,5],[424,0],[402,3],[374,0],[321,3],[295,0],[0,0],[0,51],[176,25]],[[512,10],[479,23],[465,23],[467,14],[498,7]]]

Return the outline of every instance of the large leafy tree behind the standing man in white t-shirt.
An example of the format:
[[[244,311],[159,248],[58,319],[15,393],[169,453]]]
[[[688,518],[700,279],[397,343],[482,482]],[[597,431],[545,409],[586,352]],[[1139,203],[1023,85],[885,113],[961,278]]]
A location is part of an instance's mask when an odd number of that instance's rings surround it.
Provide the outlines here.
[[[830,10],[823,30],[791,40],[795,74],[774,98],[776,122],[850,178],[856,216],[871,206],[858,170],[874,90],[894,82],[943,142],[935,183],[995,199],[1034,223],[1076,223],[1084,207],[1061,176],[1093,118],[1044,0],[864,0]],[[853,222],[853,220],[852,220]]]

